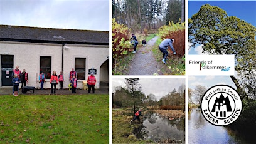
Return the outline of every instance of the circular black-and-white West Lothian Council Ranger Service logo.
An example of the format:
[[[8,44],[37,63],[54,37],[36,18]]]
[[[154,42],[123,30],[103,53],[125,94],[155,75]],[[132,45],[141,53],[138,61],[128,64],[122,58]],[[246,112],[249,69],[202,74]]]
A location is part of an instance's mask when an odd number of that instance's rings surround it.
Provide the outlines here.
[[[203,116],[216,126],[226,126],[235,122],[242,113],[242,107],[237,90],[228,85],[209,88],[201,99]]]

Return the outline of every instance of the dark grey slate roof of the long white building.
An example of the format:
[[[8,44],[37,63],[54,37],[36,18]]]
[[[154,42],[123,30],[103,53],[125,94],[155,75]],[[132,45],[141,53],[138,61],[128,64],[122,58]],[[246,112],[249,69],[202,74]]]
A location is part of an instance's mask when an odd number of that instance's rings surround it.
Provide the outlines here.
[[[109,45],[109,31],[0,25],[0,41]]]

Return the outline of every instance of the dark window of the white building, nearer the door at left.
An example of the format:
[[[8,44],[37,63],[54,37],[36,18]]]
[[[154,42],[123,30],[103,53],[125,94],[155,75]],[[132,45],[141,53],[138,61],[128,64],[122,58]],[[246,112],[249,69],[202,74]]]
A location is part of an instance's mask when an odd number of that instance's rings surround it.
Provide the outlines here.
[[[51,78],[51,56],[40,56],[39,73],[45,73],[46,79]]]

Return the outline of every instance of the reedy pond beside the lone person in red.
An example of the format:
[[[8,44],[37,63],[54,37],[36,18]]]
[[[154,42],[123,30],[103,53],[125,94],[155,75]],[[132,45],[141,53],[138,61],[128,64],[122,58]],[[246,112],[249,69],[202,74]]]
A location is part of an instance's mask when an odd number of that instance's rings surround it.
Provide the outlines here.
[[[160,142],[163,140],[174,140],[185,142],[185,119],[178,118],[169,120],[157,113],[147,113],[144,115],[142,126],[137,138]]]

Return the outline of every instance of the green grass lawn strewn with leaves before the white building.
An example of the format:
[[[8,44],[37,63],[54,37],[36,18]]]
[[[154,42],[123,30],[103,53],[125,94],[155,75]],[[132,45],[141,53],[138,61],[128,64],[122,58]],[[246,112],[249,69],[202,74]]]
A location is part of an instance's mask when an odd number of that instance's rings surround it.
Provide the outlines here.
[[[0,143],[109,143],[109,95],[4,95],[0,116]]]

